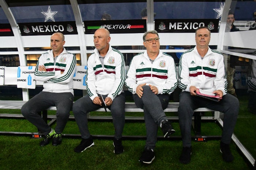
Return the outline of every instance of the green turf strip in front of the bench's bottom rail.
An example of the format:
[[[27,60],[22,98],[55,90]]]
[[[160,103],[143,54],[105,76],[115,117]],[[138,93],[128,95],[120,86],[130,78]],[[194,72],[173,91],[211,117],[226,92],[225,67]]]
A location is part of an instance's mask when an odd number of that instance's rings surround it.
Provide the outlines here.
[[[95,146],[83,153],[73,149],[80,139],[63,138],[57,147],[39,146],[41,139],[30,137],[0,136],[0,169],[1,170],[249,170],[241,155],[232,143],[235,157],[232,163],[222,160],[219,152],[219,141],[192,142],[192,157],[188,165],[178,162],[181,152],[181,141],[158,141],[155,149],[155,160],[150,165],[138,162],[143,151],[144,140],[124,140],[124,153],[113,153],[112,140],[95,140]]]

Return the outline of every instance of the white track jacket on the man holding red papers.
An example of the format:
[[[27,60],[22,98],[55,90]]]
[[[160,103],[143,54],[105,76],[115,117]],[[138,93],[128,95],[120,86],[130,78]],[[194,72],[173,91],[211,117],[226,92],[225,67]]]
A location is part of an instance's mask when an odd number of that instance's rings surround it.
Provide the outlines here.
[[[227,93],[226,70],[223,55],[208,47],[207,54],[202,59],[195,48],[182,54],[178,69],[179,87],[189,91],[190,86],[210,92],[221,90]]]

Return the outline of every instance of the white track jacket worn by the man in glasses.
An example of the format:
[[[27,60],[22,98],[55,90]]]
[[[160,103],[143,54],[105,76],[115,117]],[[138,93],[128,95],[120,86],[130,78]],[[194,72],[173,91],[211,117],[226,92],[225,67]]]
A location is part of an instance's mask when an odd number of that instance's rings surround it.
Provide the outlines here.
[[[153,63],[147,51],[134,56],[127,71],[125,86],[135,94],[137,86],[143,83],[157,87],[158,94],[172,93],[178,85],[173,58],[161,51]]]

